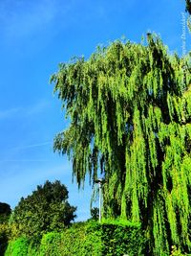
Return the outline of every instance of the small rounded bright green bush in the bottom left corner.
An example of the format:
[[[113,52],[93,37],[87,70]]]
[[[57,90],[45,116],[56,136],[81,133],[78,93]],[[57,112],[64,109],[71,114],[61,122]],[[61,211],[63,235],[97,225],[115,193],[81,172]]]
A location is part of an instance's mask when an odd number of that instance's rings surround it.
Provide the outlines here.
[[[28,255],[29,240],[21,237],[12,241],[6,250],[5,256],[26,256]]]

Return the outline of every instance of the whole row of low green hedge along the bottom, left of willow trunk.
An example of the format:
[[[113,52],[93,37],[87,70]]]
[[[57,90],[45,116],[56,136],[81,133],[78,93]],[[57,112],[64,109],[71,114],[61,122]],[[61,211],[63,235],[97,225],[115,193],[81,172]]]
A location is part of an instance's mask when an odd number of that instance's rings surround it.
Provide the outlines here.
[[[129,256],[143,255],[144,234],[138,224],[117,221],[74,223],[62,232],[44,234],[40,244],[26,238],[11,242],[6,256]],[[20,253],[20,254],[19,254]]]

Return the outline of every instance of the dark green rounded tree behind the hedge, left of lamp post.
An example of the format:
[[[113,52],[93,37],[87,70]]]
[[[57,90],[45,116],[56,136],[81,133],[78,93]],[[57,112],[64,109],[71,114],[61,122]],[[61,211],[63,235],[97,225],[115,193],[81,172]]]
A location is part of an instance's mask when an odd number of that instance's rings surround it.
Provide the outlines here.
[[[20,234],[30,237],[60,230],[74,221],[76,207],[68,202],[68,190],[60,181],[46,181],[37,186],[31,196],[21,198],[15,207],[11,221]]]

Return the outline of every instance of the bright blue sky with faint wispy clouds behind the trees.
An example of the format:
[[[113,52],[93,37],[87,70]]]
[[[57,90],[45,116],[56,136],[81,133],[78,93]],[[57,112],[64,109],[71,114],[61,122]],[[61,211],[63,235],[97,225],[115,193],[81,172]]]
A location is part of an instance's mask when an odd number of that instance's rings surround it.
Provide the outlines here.
[[[181,54],[183,0],[0,1],[0,201],[13,208],[47,179],[60,179],[89,218],[91,188],[78,191],[71,163],[53,153],[53,136],[67,127],[51,75],[73,56],[125,35],[139,42],[156,32]],[[191,47],[186,35],[186,50]]]

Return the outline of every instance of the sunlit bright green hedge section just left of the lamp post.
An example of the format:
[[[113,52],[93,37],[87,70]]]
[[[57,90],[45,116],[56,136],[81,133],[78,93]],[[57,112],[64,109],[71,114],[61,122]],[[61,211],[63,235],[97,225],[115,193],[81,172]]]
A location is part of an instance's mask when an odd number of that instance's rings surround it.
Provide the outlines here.
[[[99,256],[102,245],[98,229],[96,222],[78,222],[62,233],[48,233],[41,240],[39,255]]]

